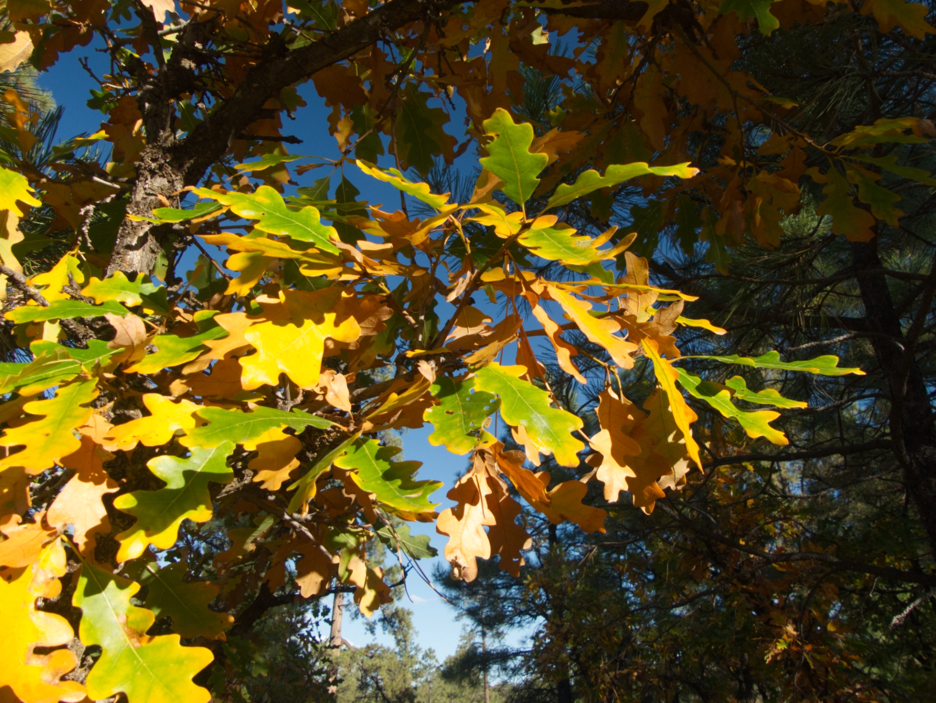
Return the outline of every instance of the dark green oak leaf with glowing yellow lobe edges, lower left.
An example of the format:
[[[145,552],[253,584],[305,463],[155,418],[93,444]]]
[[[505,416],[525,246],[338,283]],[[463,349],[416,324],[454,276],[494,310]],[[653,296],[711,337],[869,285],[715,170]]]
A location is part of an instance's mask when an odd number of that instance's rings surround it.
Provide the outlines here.
[[[234,472],[227,456],[234,451],[230,440],[216,447],[192,447],[187,458],[160,456],[147,461],[155,476],[166,481],[158,491],[133,491],[114,499],[114,507],[137,518],[129,530],[117,535],[121,546],[117,561],[136,559],[149,545],[169,549],[175,544],[179,525],[186,518],[196,522],[212,519],[210,481],[227,483]]]

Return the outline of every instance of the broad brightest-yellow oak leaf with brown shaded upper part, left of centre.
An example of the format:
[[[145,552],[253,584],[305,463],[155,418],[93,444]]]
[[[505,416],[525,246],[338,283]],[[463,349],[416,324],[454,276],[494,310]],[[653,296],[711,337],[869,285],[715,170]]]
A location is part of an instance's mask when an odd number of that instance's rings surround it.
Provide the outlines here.
[[[349,295],[355,295],[353,292]],[[256,354],[241,357],[241,382],[246,390],[263,384],[276,386],[285,373],[300,388],[318,384],[325,340],[355,342],[360,336],[358,320],[344,310],[342,291],[332,286],[316,291],[281,290],[286,320],[253,325],[244,339]]]

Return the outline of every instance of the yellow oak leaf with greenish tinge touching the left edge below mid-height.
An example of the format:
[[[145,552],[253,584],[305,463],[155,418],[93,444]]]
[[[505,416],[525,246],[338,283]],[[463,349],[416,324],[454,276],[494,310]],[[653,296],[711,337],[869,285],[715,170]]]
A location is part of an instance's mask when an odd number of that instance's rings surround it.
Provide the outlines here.
[[[0,447],[24,448],[0,459],[0,471],[22,466],[35,476],[77,451],[81,443],[72,430],[91,417],[92,410],[85,405],[97,397],[96,384],[96,379],[73,381],[60,386],[54,398],[25,403],[22,410],[28,417],[10,420],[6,436],[0,438]]]

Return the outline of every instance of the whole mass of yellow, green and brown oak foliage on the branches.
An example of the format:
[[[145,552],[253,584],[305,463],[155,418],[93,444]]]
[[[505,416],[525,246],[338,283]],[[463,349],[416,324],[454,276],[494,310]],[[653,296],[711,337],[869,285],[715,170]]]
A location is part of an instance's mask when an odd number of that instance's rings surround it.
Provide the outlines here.
[[[347,590],[368,616],[387,604],[369,543],[416,568],[431,555],[396,520],[437,520],[457,579],[472,581],[477,560],[495,556],[519,576],[533,535],[516,520],[518,498],[549,524],[589,534],[607,529],[607,512],[583,502],[592,482],[607,503],[626,491],[651,513],[703,468],[713,442],[691,403],[738,423],[742,442],[786,444],[770,424],[780,414],[755,408],[803,402],[740,375],[715,383],[683,362],[861,372],[829,355],[683,357],[677,335],[724,330],[683,316],[695,296],[652,286],[638,255],[652,254],[664,228],[684,248],[708,242],[722,270],[726,247],[748,237],[777,246],[802,176],[825,186],[817,212],[832,232],[863,242],[878,219],[896,225],[901,214],[877,183],[882,169],[934,184],[873,151],[925,141],[929,120],[881,118],[824,142],[786,124],[788,101],[737,69],[751,18],[764,34],[822,20],[825,7],[799,0],[169,5],[6,4],[15,31],[0,39],[20,47],[7,66],[27,42],[45,67],[95,35],[113,66],[93,99],[108,122],[41,162],[30,155],[37,114],[7,95],[5,138],[20,148],[0,170],[0,273],[10,333],[29,360],[2,369],[0,603],[22,636],[7,643],[18,666],[0,683],[24,703],[206,701],[193,680],[212,661],[222,679],[235,666],[226,630],[264,598]],[[860,12],[924,37],[933,30],[923,9],[874,0]],[[121,26],[134,16],[138,25]],[[573,30],[587,41],[568,58],[549,36]],[[344,53],[333,49],[345,40]],[[522,119],[524,66],[562,84],[541,134]],[[337,160],[283,147],[280,113],[301,107],[295,84],[306,79],[332,107]],[[459,149],[445,110],[430,107],[456,94],[468,116]],[[773,131],[755,145],[750,124]],[[381,134],[397,168],[374,165]],[[461,202],[404,175],[427,175],[437,157],[451,163],[472,139],[479,175]],[[76,157],[101,142],[106,164]],[[807,150],[822,166],[807,165]],[[713,152],[717,166],[689,166]],[[310,163],[299,174],[341,172],[333,196],[329,175],[284,197],[287,164],[300,158]],[[359,201],[345,168],[427,216]],[[592,237],[568,222],[581,208],[607,222],[615,189],[634,179],[654,195],[633,212],[636,232]],[[187,194],[198,203],[178,207]],[[48,231],[27,239],[20,219],[43,211]],[[17,244],[65,253],[25,275]],[[205,244],[227,249],[224,267]],[[192,247],[201,256],[183,271]],[[505,311],[496,323],[481,295]],[[599,387],[591,426],[559,402],[546,354],[582,388]],[[640,403],[622,383],[637,359],[652,374]],[[488,431],[493,416],[518,448]],[[447,493],[456,505],[438,515],[441,484],[417,480],[417,462],[396,461],[379,440],[424,422],[431,442],[471,453]],[[593,471],[578,476],[583,457]],[[553,471],[534,471],[544,463]],[[186,521],[221,518],[225,549],[188,564]],[[63,649],[76,631],[94,652],[87,661]]]

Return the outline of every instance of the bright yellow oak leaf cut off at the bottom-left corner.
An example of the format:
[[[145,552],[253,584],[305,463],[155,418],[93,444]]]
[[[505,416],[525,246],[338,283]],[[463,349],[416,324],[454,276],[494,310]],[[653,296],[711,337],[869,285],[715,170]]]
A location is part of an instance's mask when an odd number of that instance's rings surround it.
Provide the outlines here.
[[[0,637],[0,689],[9,686],[26,703],[77,703],[85,699],[78,681],[62,676],[78,665],[69,650],[38,654],[38,647],[57,647],[75,633],[65,618],[36,607],[37,598],[62,593],[66,554],[56,539],[37,554],[34,564],[0,571],[0,611],[4,614],[4,637]]]

